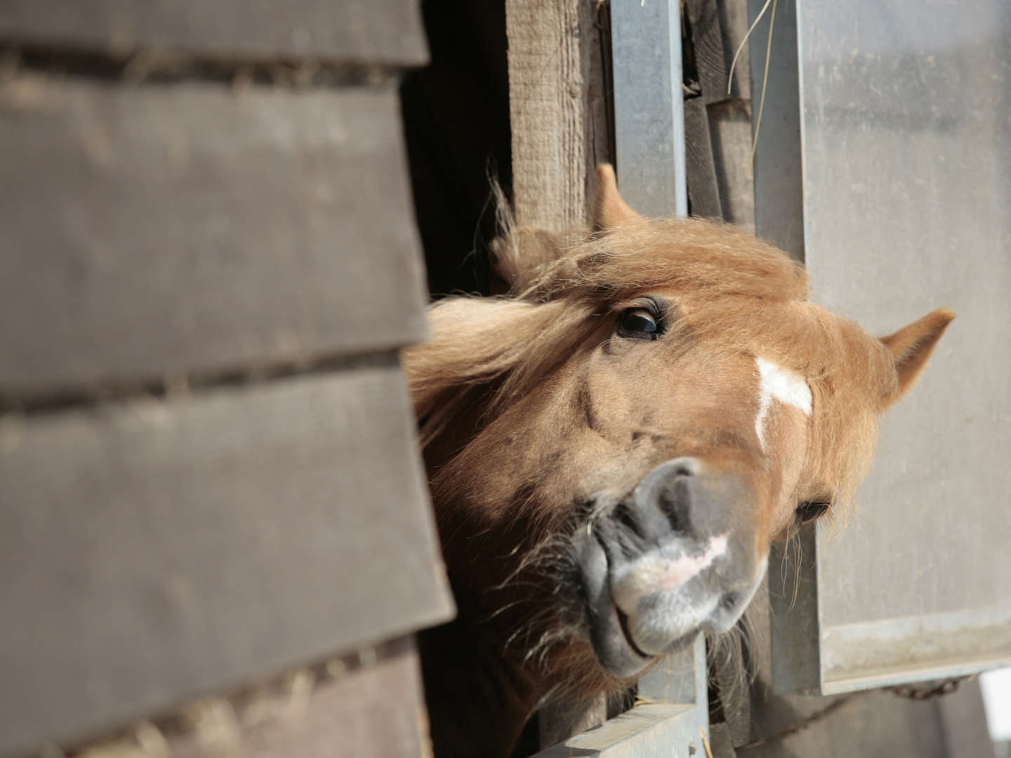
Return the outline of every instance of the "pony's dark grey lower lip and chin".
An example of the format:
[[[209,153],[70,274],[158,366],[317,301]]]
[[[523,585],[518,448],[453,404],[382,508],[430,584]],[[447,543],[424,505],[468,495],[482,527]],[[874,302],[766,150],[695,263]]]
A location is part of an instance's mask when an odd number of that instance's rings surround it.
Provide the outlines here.
[[[601,667],[618,677],[635,676],[656,656],[639,650],[622,619],[622,611],[611,598],[611,577],[604,547],[592,537],[579,551],[583,603],[593,653]]]

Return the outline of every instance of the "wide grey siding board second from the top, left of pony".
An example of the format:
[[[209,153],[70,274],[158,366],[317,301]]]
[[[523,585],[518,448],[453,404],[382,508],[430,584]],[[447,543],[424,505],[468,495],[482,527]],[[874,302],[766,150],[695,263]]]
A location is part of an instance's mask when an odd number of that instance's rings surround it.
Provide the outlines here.
[[[0,84],[0,393],[426,334],[395,91]]]

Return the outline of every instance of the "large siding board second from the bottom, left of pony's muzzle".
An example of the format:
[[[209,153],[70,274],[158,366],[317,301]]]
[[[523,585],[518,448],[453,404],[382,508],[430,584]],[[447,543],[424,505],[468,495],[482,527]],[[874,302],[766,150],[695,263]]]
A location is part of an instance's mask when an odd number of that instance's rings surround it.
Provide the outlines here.
[[[0,754],[446,620],[392,356],[0,423]]]

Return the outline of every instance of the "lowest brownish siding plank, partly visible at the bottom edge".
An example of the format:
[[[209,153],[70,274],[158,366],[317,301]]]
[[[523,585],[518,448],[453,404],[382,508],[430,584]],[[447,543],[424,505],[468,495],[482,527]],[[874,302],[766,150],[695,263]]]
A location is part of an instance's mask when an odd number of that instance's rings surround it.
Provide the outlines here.
[[[201,697],[79,758],[420,758],[431,755],[412,637]]]

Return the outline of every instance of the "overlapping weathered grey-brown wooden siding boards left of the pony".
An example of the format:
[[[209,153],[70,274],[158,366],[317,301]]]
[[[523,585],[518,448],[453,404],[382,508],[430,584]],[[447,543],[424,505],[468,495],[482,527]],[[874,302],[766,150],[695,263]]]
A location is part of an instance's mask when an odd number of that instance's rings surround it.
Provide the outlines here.
[[[396,355],[418,4],[32,0],[0,42],[0,755],[394,638],[240,742],[418,755],[405,636],[453,609]]]

